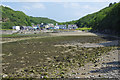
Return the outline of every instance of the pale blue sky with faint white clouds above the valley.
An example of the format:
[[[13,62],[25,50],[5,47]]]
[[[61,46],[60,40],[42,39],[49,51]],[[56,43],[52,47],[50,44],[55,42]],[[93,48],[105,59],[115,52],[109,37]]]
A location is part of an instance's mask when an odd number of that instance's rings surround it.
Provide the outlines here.
[[[79,18],[97,12],[114,1],[39,1],[39,0],[4,0],[2,5],[16,11],[23,11],[28,16],[47,17],[58,22],[78,20]],[[116,2],[118,2],[116,0]]]

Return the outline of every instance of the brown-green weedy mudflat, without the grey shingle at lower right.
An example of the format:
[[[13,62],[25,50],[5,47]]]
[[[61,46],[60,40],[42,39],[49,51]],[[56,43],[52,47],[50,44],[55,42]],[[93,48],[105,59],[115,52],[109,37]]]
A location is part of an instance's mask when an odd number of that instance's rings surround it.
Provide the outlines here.
[[[69,78],[77,77],[78,74],[84,75],[83,72],[76,72],[75,69],[89,62],[97,63],[99,56],[104,56],[118,47],[114,44],[86,47],[85,44],[107,41],[111,41],[111,38],[54,36],[3,43],[3,77]]]

